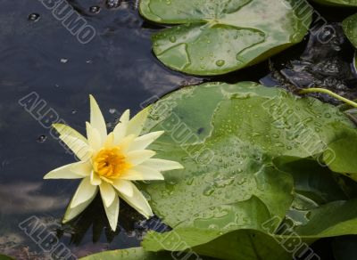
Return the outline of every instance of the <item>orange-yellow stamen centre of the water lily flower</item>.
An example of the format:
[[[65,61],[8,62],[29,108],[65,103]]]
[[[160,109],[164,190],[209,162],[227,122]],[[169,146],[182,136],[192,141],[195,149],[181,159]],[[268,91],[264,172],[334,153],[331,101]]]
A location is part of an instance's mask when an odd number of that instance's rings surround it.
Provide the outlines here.
[[[130,164],[119,147],[100,150],[93,158],[93,167],[97,175],[108,179],[116,179],[127,170]]]

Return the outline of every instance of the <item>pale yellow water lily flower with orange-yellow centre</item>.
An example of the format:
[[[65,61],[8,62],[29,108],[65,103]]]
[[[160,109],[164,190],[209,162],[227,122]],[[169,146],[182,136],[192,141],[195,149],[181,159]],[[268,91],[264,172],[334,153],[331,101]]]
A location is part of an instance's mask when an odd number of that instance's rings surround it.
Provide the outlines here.
[[[73,150],[79,162],[59,167],[49,172],[45,179],[83,179],[71,199],[63,218],[66,223],[79,215],[100,191],[105,213],[113,231],[117,228],[119,197],[124,199],[146,218],[153,211],[132,181],[163,180],[163,171],[183,168],[178,162],[153,158],[154,150],[146,148],[159,138],[163,131],[140,136],[148,110],[129,119],[126,110],[120,123],[107,134],[104,117],[92,95],[90,98],[90,123],[87,139],[70,126],[54,124],[60,138]]]

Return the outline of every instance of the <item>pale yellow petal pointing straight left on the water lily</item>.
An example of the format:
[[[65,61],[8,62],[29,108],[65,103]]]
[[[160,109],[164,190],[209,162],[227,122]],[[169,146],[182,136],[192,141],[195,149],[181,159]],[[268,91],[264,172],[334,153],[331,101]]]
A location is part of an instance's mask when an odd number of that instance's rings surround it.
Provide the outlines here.
[[[81,179],[89,175],[90,171],[89,162],[76,162],[52,170],[44,176],[44,179]]]

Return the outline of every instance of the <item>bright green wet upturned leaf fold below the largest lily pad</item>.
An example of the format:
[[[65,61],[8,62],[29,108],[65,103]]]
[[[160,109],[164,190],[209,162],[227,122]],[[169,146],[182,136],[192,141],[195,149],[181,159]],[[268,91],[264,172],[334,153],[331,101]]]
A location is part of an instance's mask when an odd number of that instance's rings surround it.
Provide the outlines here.
[[[263,231],[261,223],[269,219],[270,212],[267,207],[264,206],[261,200],[253,197],[246,201],[208,208],[195,215],[195,219],[180,223],[174,232],[158,234],[159,236],[151,242],[146,238],[143,245],[145,248],[150,248],[150,250],[154,251],[162,250],[162,248],[169,251],[183,251],[207,243],[224,233],[236,231],[237,229],[252,228]],[[172,243],[175,237],[178,238],[178,233],[179,239],[185,241],[185,243]],[[192,236],[194,233],[195,236]],[[168,238],[168,234],[171,235],[172,239]],[[201,237],[199,234],[201,234]]]

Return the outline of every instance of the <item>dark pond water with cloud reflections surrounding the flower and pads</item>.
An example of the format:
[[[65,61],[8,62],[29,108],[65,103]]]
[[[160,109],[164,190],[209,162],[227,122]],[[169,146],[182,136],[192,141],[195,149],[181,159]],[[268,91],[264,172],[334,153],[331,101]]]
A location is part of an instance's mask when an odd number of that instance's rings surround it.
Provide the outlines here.
[[[41,118],[50,109],[84,133],[89,93],[95,95],[109,127],[125,109],[135,113],[140,104],[153,97],[207,80],[262,78],[266,85],[289,89],[315,82],[330,88],[339,85],[337,90],[356,97],[351,67],[353,48],[338,34],[333,45],[316,46],[313,38],[308,43],[307,37],[271,61],[225,77],[190,77],[156,61],[150,35],[158,28],[140,18],[134,1],[68,3],[87,20],[87,25],[95,28],[95,37],[87,44],[81,44],[79,39],[85,37],[73,36],[40,1],[0,0],[0,253],[19,259],[46,257],[37,246],[38,240],[21,230],[23,223],[30,220],[45,223],[46,232],[55,231],[76,256],[135,247],[141,233],[150,227],[150,223],[142,223],[139,215],[123,206],[120,229],[110,232],[98,199],[75,222],[59,225],[78,183],[42,179],[51,169],[74,160],[44,127],[46,122]],[[342,9],[330,13],[320,7],[318,10],[332,22],[352,13]],[[338,31],[338,25],[334,26]],[[304,51],[307,45],[309,49]],[[334,55],[329,55],[330,50],[335,50]],[[340,77],[341,73],[344,77]],[[330,81],[321,81],[326,77]],[[19,104],[32,92],[46,103],[36,111],[37,115],[29,114]]]

